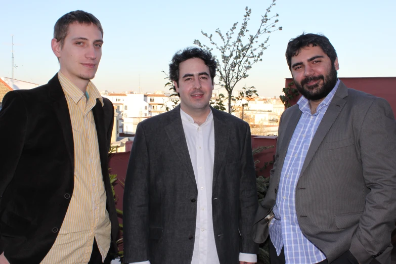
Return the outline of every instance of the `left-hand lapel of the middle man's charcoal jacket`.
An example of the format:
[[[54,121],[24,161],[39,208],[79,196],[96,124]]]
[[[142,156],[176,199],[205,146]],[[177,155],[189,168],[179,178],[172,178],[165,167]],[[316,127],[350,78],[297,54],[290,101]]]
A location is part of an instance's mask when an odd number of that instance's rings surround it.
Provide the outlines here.
[[[181,164],[183,164],[183,167],[186,169],[187,174],[195,185],[197,185],[193,165],[188,152],[186,136],[184,134],[182,117],[180,116],[180,105],[169,112],[168,118],[168,125],[165,126],[166,135],[169,138],[174,152],[180,159]]]

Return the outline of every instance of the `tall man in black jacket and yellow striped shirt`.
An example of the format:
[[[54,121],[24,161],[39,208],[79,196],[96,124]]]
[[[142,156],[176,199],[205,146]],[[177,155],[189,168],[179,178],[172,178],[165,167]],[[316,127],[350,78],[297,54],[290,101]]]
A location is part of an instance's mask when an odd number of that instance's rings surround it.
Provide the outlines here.
[[[107,153],[114,108],[91,79],[103,29],[74,11],[54,27],[48,84],[14,91],[0,112],[0,263],[110,263],[117,217]],[[11,137],[18,143],[12,144]]]

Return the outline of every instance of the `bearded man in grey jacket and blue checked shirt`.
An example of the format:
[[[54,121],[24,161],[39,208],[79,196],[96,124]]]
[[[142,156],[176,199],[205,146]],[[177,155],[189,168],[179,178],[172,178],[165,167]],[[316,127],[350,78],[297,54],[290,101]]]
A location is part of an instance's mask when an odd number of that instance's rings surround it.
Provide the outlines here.
[[[323,35],[288,43],[302,97],[279,125],[254,241],[271,263],[390,263],[396,221],[396,122],[382,98],[348,89]]]

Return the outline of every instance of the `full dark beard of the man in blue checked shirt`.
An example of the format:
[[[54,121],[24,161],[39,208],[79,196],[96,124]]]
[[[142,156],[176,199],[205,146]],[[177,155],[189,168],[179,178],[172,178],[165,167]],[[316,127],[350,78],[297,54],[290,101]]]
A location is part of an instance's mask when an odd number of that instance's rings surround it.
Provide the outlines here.
[[[310,81],[323,80],[323,84],[315,83],[313,85],[307,85]],[[294,80],[294,78],[293,78]],[[301,80],[300,83],[294,80],[297,91],[306,99],[316,101],[325,98],[331,90],[333,90],[337,83],[337,70],[335,69],[334,63],[331,66],[330,72],[326,75],[318,75],[312,77],[306,77]]]

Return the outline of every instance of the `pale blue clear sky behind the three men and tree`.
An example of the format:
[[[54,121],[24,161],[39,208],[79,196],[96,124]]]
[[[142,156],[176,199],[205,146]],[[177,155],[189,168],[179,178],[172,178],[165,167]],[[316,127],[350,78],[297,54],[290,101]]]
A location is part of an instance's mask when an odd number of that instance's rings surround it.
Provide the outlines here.
[[[55,22],[62,15],[84,10],[104,29],[102,59],[94,84],[99,91],[163,90],[173,54],[193,47],[194,39],[209,44],[201,30],[215,35],[242,22],[252,9],[248,29],[257,30],[270,0],[245,1],[2,1],[0,15],[0,76],[11,77],[14,35],[14,78],[45,84],[59,70],[51,50]],[[339,77],[396,76],[396,1],[277,0],[270,14],[279,14],[282,31],[269,34],[262,62],[240,82],[260,96],[278,97],[291,77],[285,59],[287,42],[302,32],[326,35],[337,51]],[[239,27],[237,26],[237,29]],[[264,40],[267,35],[261,37]],[[218,40],[218,38],[216,39]],[[216,53],[213,53],[217,55]],[[215,87],[216,89],[216,87]]]

